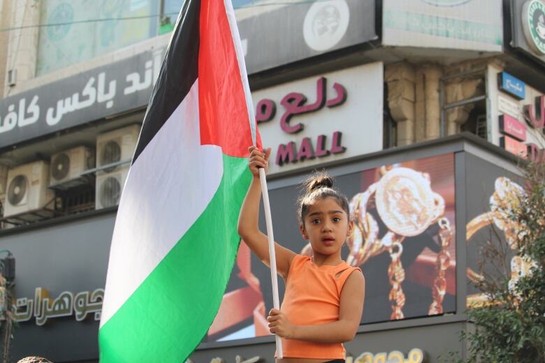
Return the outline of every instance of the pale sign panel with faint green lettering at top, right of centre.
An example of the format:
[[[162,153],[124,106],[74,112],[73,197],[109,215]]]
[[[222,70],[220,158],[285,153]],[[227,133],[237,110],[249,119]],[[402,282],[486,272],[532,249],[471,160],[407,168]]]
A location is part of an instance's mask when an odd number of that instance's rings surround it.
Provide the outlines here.
[[[500,52],[502,1],[384,0],[382,27],[384,45]]]

